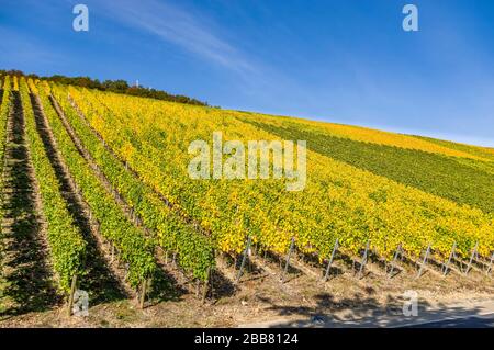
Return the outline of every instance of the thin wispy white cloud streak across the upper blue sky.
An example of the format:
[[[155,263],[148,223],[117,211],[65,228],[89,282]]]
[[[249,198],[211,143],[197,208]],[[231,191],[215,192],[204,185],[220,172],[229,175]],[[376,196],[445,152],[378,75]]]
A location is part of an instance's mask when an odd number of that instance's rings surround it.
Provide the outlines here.
[[[210,23],[177,4],[156,0],[122,0],[117,4],[105,1],[102,5],[113,9],[108,12],[112,19],[179,45],[237,74],[247,77],[258,70],[244,53],[215,33]]]

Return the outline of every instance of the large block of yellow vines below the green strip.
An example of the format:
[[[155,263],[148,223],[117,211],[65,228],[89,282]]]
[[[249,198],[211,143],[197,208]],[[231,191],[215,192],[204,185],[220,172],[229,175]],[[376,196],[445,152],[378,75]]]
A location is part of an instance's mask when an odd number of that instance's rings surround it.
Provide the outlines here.
[[[69,91],[112,149],[146,183],[211,229],[222,250],[240,251],[247,233],[274,252],[284,252],[295,237],[300,250],[319,258],[327,257],[335,238],[352,255],[370,239],[386,258],[400,244],[415,257],[428,244],[441,256],[454,241],[462,256],[476,241],[483,255],[494,250],[492,215],[313,151],[307,151],[306,188],[297,193],[284,190],[285,180],[191,180],[191,140],[211,140],[215,131],[244,144],[279,139],[246,123],[248,114]]]

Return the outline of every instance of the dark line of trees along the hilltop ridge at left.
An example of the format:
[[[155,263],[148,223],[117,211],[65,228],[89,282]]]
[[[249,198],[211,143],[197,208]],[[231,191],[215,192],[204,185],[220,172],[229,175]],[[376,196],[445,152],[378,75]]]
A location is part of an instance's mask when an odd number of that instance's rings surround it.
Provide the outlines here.
[[[52,77],[40,77],[34,74],[26,75],[21,70],[0,70],[0,77],[3,76],[18,76],[27,77],[32,79],[46,79],[63,84],[78,86],[89,89],[98,89],[101,91],[111,91],[116,93],[132,94],[136,97],[150,98],[156,100],[194,104],[194,105],[207,105],[206,102],[199,101],[197,99],[188,98],[181,94],[171,94],[166,91],[149,89],[144,87],[130,86],[125,80],[104,80],[91,79],[89,77],[65,77],[55,75]]]

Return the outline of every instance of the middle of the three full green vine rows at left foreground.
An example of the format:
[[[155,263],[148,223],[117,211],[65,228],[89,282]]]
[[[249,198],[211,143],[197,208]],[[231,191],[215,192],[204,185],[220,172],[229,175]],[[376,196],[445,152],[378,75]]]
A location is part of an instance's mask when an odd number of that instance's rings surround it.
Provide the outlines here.
[[[126,218],[111,193],[78,153],[46,93],[41,92],[45,115],[70,174],[98,219],[101,234],[113,242],[122,261],[128,264],[128,282],[137,286],[145,279],[151,278],[157,269],[154,244]]]

